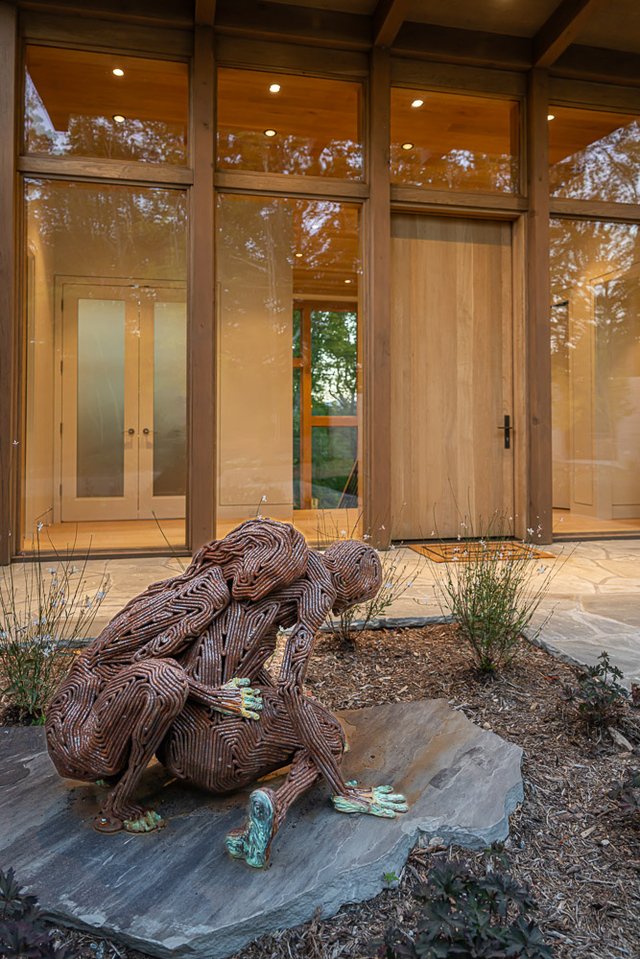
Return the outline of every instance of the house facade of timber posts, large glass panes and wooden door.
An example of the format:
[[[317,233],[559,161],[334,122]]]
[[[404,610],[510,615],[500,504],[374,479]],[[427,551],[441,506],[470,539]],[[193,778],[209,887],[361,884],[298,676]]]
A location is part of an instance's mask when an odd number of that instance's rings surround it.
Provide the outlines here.
[[[640,529],[634,0],[0,0],[0,561]]]

